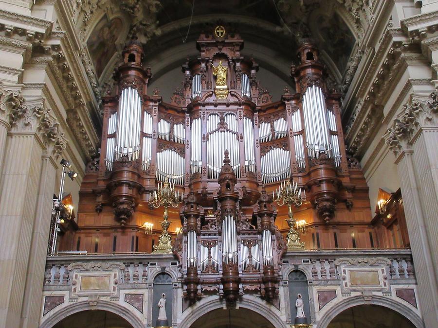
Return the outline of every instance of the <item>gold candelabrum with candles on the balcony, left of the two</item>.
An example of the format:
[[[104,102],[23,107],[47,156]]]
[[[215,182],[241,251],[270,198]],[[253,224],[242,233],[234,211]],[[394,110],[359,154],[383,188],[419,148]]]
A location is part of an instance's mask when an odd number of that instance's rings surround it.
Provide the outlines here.
[[[170,222],[168,221],[167,209],[169,207],[178,207],[183,203],[183,195],[175,191],[175,185],[170,183],[166,178],[164,184],[161,182],[157,190],[153,193],[149,192],[149,207],[158,208],[164,207],[163,221],[160,222],[163,232],[158,240],[158,245],[154,245],[155,254],[171,254],[172,245],[170,244],[170,235],[167,229]]]

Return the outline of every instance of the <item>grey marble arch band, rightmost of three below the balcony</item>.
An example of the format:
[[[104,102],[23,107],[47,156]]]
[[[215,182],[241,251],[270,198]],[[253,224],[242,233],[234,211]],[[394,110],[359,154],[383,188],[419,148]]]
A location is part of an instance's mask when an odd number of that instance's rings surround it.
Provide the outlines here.
[[[323,314],[321,321],[318,323],[318,327],[326,328],[329,325],[330,321],[333,320],[334,317],[336,317],[339,313],[341,313],[344,310],[347,310],[354,306],[367,305],[367,304],[380,305],[384,308],[394,310],[400,313],[409,321],[411,321],[415,325],[415,327],[418,328],[424,327],[423,320],[421,319],[421,317],[417,313],[409,309],[407,306],[397,301],[394,301],[393,299],[383,296],[374,296],[374,295],[369,301],[366,302],[364,301],[364,297],[362,295],[353,296],[344,299],[343,301],[337,303],[336,306],[332,307],[326,313]]]

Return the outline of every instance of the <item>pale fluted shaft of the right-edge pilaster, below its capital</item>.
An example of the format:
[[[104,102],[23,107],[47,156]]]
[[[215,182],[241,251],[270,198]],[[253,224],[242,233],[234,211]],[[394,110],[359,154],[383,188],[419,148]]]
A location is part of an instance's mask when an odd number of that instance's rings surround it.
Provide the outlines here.
[[[404,151],[397,162],[426,327],[433,327],[438,317],[437,139],[438,129],[420,131],[412,150]]]

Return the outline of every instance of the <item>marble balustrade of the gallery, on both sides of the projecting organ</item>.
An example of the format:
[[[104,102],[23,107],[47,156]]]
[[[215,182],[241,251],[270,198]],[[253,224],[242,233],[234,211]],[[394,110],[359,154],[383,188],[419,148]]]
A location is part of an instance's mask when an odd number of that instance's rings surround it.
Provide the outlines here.
[[[172,255],[115,253],[48,256],[44,286],[71,285],[73,271],[105,270],[119,271],[118,284],[146,283],[148,272],[163,264],[169,268],[178,265]],[[307,273],[309,280],[342,280],[351,267],[380,267],[383,271],[379,274],[383,280],[415,279],[411,251],[408,249],[289,251],[282,260],[283,274],[290,265],[298,265]]]

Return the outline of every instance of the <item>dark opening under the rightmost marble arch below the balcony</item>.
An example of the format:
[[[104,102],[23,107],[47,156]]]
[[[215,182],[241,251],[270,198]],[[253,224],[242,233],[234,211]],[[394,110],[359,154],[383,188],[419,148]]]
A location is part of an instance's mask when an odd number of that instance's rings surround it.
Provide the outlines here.
[[[336,315],[327,328],[415,328],[402,314],[379,305],[357,305]]]

